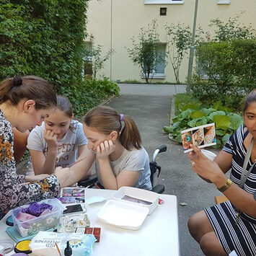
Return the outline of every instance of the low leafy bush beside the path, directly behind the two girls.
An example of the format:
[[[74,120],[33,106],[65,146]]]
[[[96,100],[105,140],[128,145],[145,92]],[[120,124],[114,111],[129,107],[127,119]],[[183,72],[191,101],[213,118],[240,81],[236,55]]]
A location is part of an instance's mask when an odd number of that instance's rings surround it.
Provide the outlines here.
[[[110,95],[119,95],[118,84],[108,79],[85,80],[74,86],[61,87],[59,93],[69,98],[76,118],[84,115],[89,109],[99,105]]]

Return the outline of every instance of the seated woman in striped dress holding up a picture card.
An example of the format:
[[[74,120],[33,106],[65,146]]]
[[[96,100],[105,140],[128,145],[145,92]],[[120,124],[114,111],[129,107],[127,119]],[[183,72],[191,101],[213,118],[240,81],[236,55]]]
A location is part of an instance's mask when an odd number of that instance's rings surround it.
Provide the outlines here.
[[[229,199],[195,213],[188,221],[190,234],[205,255],[229,255],[232,251],[239,256],[256,255],[256,90],[244,102],[243,118],[244,125],[230,136],[213,162],[193,145],[194,151],[188,153],[193,170]],[[251,172],[243,185],[242,169],[250,145],[245,174]],[[225,174],[230,168],[228,179]]]

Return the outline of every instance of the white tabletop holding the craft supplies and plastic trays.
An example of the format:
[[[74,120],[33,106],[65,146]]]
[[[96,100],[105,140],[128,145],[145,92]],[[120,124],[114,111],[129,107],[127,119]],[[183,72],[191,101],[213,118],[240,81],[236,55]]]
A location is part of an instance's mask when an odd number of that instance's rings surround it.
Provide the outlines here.
[[[86,197],[102,195],[110,199],[114,192],[114,190],[87,189]],[[157,206],[154,212],[146,217],[141,229],[136,231],[102,223],[97,219],[97,212],[105,202],[91,204],[87,209],[91,226],[102,229],[100,242],[94,243],[93,256],[179,256],[177,198],[175,195],[160,195],[160,198],[164,203]],[[7,216],[9,214],[0,221],[0,239],[10,239],[5,232]]]

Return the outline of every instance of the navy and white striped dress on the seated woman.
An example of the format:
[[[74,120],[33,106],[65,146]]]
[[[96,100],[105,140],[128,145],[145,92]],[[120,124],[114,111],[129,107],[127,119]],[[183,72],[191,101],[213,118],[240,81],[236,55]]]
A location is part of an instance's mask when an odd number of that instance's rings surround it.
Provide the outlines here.
[[[224,146],[224,151],[232,154],[231,175],[230,179],[239,185],[242,175],[242,167],[247,150],[244,148],[244,138],[248,132],[244,133],[244,126],[240,126],[233,133]],[[251,159],[247,165],[250,169],[253,162]],[[244,190],[248,193],[256,191],[256,167],[252,169],[249,177],[244,184]],[[239,256],[256,255],[256,219],[241,213],[237,226],[235,225],[236,211],[234,206],[227,201],[211,208],[206,208],[211,225],[216,233],[222,247],[229,254],[235,250]]]

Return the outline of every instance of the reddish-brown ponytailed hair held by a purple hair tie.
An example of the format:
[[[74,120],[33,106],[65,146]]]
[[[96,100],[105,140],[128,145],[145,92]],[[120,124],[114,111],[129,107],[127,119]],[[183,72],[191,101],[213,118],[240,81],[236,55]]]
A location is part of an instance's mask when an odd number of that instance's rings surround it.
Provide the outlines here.
[[[127,150],[131,150],[132,146],[141,149],[141,134],[136,123],[128,115],[123,115],[122,119],[124,122],[123,129],[120,114],[117,111],[112,107],[98,106],[87,112],[83,122],[88,127],[95,128],[95,130],[106,135],[109,135],[112,131],[117,131],[120,143]]]

